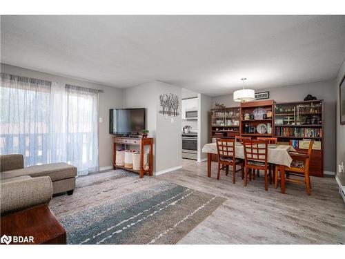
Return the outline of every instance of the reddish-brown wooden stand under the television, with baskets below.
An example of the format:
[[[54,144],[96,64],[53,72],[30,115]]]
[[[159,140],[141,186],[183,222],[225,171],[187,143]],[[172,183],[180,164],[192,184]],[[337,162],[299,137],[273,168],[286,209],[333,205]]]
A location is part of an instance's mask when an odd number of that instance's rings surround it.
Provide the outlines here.
[[[124,169],[127,171],[131,171],[134,173],[139,173],[139,178],[144,177],[144,173],[148,173],[148,175],[152,176],[153,172],[153,138],[147,137],[147,138],[139,138],[139,137],[112,137],[113,139],[113,148],[112,148],[112,166],[113,169]],[[116,164],[116,151],[117,151],[117,145],[131,145],[131,146],[139,146],[140,151],[140,169],[134,170],[134,169],[128,169],[124,166],[117,166]],[[148,153],[148,170],[144,169],[144,146],[150,146],[150,151]]]

